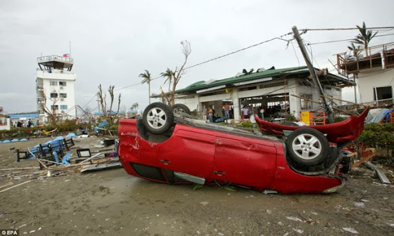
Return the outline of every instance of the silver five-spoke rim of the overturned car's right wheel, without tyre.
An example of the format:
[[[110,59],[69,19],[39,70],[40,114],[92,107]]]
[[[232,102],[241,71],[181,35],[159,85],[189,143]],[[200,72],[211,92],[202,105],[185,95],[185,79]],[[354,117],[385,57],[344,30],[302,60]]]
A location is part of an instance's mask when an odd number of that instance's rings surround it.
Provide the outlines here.
[[[303,133],[295,137],[291,147],[301,159],[314,159],[322,152],[322,143],[312,134]]]

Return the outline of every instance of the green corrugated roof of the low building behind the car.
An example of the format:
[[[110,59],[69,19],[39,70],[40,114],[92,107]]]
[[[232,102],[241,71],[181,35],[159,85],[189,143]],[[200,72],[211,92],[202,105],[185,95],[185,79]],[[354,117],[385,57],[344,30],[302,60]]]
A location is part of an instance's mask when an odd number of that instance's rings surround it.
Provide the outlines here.
[[[305,69],[305,71],[303,69]],[[209,88],[212,88],[215,86],[234,84],[234,83],[249,81],[249,80],[253,80],[253,79],[262,79],[262,78],[266,78],[266,77],[278,77],[278,76],[283,76],[285,73],[290,74],[291,71],[293,71],[293,70],[303,70],[303,71],[300,71],[300,73],[307,72],[307,67],[303,66],[303,67],[289,67],[289,68],[284,68],[284,69],[265,70],[262,72],[241,75],[239,77],[229,77],[227,79],[220,79],[217,81],[213,81],[212,83],[209,83],[209,84],[205,84],[205,81],[198,81],[194,84],[187,86],[184,89],[179,89],[179,90],[175,91],[175,93],[184,93],[184,92],[190,92],[190,91],[197,91],[197,90],[201,90],[201,89],[209,89]]]

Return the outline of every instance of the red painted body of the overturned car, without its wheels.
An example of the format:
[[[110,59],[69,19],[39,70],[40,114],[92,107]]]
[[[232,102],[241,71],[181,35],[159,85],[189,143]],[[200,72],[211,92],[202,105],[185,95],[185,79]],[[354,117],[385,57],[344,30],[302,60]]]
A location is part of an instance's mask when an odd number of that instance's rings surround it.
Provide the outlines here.
[[[284,143],[275,137],[176,124],[170,138],[151,143],[137,124],[136,119],[121,119],[118,129],[118,155],[132,176],[178,183],[171,176],[176,171],[204,178],[205,184],[231,183],[281,193],[333,192],[343,185],[338,171],[320,176],[294,171],[286,162]]]

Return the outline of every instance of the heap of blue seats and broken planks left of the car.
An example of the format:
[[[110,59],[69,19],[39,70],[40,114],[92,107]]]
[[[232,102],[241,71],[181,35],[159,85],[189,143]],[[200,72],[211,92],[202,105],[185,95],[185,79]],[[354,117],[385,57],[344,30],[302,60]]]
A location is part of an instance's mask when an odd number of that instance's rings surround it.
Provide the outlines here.
[[[68,173],[98,171],[121,167],[116,147],[91,152],[89,148],[75,147],[75,136],[59,136],[27,150],[16,150],[16,161],[34,159],[38,166],[0,169],[0,176],[15,180],[22,178],[47,178],[65,176]],[[106,146],[115,144],[115,139],[106,139]],[[104,147],[104,146],[103,146]]]

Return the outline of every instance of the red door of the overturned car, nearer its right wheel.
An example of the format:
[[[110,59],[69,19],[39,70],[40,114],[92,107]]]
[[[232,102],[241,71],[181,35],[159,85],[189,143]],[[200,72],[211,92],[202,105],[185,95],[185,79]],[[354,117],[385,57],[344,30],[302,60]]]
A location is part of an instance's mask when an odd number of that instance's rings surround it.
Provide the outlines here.
[[[266,188],[272,181],[277,151],[270,140],[217,137],[210,177],[219,181]]]

